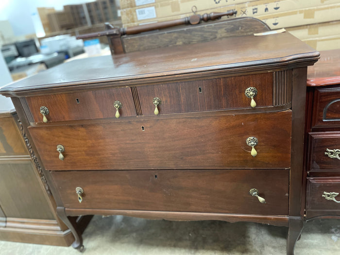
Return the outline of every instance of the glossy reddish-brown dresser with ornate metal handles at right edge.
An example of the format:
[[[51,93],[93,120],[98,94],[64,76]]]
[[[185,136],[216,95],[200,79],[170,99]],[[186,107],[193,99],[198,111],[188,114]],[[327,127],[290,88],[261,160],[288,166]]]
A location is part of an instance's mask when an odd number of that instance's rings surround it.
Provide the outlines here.
[[[308,68],[306,219],[340,217],[340,50]]]

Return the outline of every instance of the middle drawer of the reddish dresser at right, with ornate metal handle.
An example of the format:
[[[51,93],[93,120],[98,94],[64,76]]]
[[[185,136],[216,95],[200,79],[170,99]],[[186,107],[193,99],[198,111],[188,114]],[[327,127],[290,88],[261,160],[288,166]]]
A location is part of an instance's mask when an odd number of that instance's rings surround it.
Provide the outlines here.
[[[340,170],[340,132],[309,133],[308,171]]]

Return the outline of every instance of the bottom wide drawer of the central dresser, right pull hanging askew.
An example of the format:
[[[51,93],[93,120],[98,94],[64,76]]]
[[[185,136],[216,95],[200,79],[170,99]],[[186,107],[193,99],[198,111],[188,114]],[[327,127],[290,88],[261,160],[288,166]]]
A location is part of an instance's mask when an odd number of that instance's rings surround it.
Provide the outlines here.
[[[288,215],[289,170],[54,171],[66,208]],[[82,203],[76,187],[82,187]],[[256,188],[261,204],[249,190]]]

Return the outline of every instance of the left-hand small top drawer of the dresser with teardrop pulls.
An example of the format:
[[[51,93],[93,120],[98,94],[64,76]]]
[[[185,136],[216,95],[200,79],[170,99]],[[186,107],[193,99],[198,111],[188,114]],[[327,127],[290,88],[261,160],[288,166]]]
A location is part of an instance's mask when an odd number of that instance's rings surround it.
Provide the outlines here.
[[[130,88],[109,88],[26,98],[34,122],[43,122],[40,107],[48,109],[48,122],[76,119],[115,118],[114,102],[121,102],[119,115],[136,116]]]

